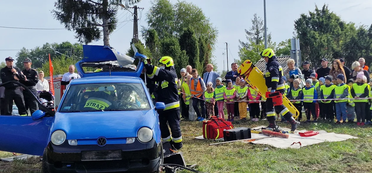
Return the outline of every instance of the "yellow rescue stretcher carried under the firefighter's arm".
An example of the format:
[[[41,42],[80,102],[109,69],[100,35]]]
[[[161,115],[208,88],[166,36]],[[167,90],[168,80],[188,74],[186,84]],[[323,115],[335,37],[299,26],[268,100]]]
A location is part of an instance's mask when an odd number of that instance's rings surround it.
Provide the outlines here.
[[[266,99],[267,86],[265,84],[264,74],[250,60],[245,60],[238,67],[238,73],[246,82],[252,86],[264,99]],[[297,119],[299,112],[296,107],[283,95],[283,105],[288,108],[293,114],[294,119]]]

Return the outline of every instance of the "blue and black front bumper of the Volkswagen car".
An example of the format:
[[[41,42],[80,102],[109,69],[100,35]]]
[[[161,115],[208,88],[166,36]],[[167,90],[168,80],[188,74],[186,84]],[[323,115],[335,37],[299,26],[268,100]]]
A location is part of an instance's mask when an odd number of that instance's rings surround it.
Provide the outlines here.
[[[121,160],[81,161],[81,151],[122,150]],[[147,143],[135,140],[132,144],[76,145],[66,142],[46,149],[46,169],[55,173],[89,172],[155,172],[160,163],[160,145],[154,139]]]

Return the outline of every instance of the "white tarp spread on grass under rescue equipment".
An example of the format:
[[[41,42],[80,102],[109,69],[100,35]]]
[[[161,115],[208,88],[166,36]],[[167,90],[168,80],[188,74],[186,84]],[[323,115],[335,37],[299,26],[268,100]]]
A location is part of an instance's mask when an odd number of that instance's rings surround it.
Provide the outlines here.
[[[262,127],[266,126],[259,126],[255,127],[252,129],[261,129]],[[282,128],[282,130],[285,131],[290,131],[291,129],[287,128]],[[317,143],[322,143],[322,142],[338,142],[338,141],[344,141],[347,139],[357,139],[357,137],[348,135],[348,134],[336,134],[336,133],[327,133],[324,130],[320,131],[314,131],[314,132],[319,132],[319,134],[311,137],[301,137],[298,132],[306,132],[307,130],[299,130],[296,131],[294,134],[288,134],[289,138],[288,139],[283,139],[279,137],[270,137],[266,139],[260,139],[260,140],[255,140],[251,143],[254,144],[266,144],[270,145],[276,148],[281,148],[281,149],[286,149],[286,148],[301,148],[304,146],[312,145],[312,144],[317,144]],[[263,134],[256,134],[256,133],[251,133],[252,139],[253,138],[259,138],[259,137],[266,137],[266,135]],[[203,139],[203,136],[198,136],[195,137],[195,139]],[[223,140],[223,139],[222,139]],[[250,139],[247,139],[250,140]],[[244,143],[249,143],[246,141],[243,141]],[[293,144],[293,143],[301,142],[300,144]],[[292,145],[293,144],[293,145]]]

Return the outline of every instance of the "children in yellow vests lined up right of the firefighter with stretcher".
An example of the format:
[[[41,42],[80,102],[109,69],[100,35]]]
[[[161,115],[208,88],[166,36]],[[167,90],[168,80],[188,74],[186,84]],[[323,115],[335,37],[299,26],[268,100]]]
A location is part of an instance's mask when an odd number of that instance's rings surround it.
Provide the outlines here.
[[[368,84],[363,72],[357,75],[356,81],[350,79],[345,84],[344,79],[343,74],[338,74],[337,83],[334,84],[332,76],[321,77],[317,80],[317,74],[312,73],[310,79],[306,80],[306,86],[302,89],[300,87],[301,80],[295,79],[293,81],[294,87],[288,89],[287,97],[289,100],[294,100],[292,103],[300,111],[298,120],[302,119],[301,110],[304,106],[306,122],[311,122],[311,115],[312,122],[317,122],[317,120],[334,122],[336,114],[336,124],[341,122],[344,124],[346,120],[352,123],[356,112],[358,126],[371,124],[370,110],[372,110],[372,106],[369,104],[368,97],[372,97],[372,80]],[[367,123],[365,123],[366,121]]]

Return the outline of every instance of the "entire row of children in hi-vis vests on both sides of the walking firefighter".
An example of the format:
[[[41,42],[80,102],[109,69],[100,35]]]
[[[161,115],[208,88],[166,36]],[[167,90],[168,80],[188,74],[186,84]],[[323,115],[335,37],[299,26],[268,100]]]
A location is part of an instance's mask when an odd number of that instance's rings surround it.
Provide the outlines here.
[[[356,81],[350,79],[345,84],[344,79],[345,76],[339,74],[336,79],[337,84],[334,84],[332,83],[332,76],[321,77],[317,80],[317,74],[312,73],[310,79],[306,80],[304,88],[300,87],[301,79],[294,79],[292,88],[289,88],[286,84],[288,90],[285,95],[289,100],[293,100],[292,104],[299,110],[298,120],[302,119],[301,110],[303,106],[307,119],[305,122],[317,122],[318,120],[334,122],[334,115],[336,114],[336,124],[341,122],[344,124],[346,121],[352,123],[356,114],[358,126],[370,124],[372,106],[369,104],[371,99],[368,99],[368,97],[372,97],[372,80],[368,84],[362,72],[357,75]],[[198,75],[198,71],[193,69],[192,76],[187,77],[187,84],[191,91],[195,91],[194,93],[190,92],[190,95],[198,120],[202,121],[214,116],[215,104],[218,106],[219,117],[223,119],[225,119],[223,110],[225,105],[228,121],[234,121],[234,116],[237,114],[240,120],[246,120],[247,105],[251,120],[259,120],[260,102],[261,106],[264,106],[264,102],[260,100],[263,98],[249,84],[247,85],[244,79],[237,77],[235,85],[228,79],[226,86],[224,86],[222,79],[218,77],[216,86],[212,86],[211,82],[205,84]],[[183,92],[185,91],[183,90]],[[198,102],[201,106],[201,112],[197,105]],[[238,109],[236,109],[236,106]],[[284,119],[282,118],[282,120]]]

